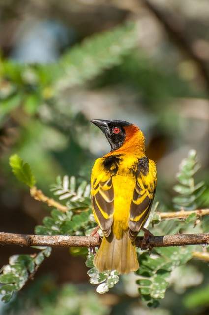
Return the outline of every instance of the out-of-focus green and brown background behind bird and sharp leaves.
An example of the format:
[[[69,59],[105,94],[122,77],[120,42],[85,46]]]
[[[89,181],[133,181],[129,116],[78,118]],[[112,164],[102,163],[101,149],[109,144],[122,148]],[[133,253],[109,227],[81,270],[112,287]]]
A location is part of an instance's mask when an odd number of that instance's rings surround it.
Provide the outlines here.
[[[47,194],[57,175],[90,181],[93,161],[109,150],[90,119],[142,129],[157,162],[160,209],[171,209],[175,174],[191,148],[209,187],[208,0],[1,0],[0,30],[1,231],[33,233],[48,213],[14,179],[8,157],[29,162]],[[29,252],[1,247],[0,266]],[[55,249],[0,314],[209,314],[202,262],[175,271],[156,310],[139,301],[134,275],[98,296],[86,272],[82,257]]]

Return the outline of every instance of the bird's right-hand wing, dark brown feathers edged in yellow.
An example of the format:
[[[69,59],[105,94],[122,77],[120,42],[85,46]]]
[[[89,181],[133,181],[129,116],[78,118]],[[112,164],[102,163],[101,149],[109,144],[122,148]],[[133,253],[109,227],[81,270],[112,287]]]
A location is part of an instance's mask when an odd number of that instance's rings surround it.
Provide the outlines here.
[[[133,198],[130,206],[129,236],[135,239],[139,230],[143,227],[151,210],[157,185],[156,165],[149,160],[146,171],[138,172]]]

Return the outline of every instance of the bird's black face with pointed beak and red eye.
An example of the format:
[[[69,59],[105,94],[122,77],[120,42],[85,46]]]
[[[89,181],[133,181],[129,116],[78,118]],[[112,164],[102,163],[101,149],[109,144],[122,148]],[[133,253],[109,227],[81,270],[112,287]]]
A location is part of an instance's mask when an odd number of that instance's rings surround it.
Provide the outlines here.
[[[125,142],[125,128],[132,124],[122,120],[93,119],[91,123],[99,127],[111,146],[111,151],[119,149]]]

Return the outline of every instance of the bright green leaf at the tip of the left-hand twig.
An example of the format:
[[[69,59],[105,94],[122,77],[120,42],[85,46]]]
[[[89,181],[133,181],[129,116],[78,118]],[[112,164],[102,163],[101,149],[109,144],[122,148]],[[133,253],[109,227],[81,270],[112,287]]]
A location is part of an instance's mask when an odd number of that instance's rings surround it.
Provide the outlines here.
[[[10,157],[9,164],[12,168],[12,172],[20,182],[26,184],[29,187],[35,185],[36,180],[32,174],[29,164],[24,163],[24,161],[17,154],[14,154]]]

